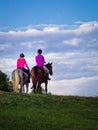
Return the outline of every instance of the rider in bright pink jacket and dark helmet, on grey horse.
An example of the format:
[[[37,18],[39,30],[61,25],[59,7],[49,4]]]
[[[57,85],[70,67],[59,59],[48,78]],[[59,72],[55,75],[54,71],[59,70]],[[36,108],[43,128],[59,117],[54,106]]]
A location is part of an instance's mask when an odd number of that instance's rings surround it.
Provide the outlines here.
[[[30,69],[29,69],[29,66],[28,66],[28,64],[27,64],[24,57],[25,57],[24,54],[21,53],[20,57],[17,60],[17,69],[22,69],[24,72],[27,73],[27,75],[28,75],[28,83],[30,83]]]

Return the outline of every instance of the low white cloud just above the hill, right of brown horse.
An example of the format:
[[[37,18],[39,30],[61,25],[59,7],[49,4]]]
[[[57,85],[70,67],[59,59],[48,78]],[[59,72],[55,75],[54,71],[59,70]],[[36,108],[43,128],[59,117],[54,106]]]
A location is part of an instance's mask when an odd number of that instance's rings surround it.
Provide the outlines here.
[[[58,95],[98,96],[98,76],[50,81],[48,91]]]

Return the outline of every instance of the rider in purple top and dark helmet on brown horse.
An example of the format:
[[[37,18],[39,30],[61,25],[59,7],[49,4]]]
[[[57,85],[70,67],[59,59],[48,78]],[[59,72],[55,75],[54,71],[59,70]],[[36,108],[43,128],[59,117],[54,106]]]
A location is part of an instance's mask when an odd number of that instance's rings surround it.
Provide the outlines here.
[[[46,62],[45,62],[45,58],[44,56],[42,55],[42,50],[41,49],[38,49],[38,55],[35,57],[35,60],[36,60],[36,65],[37,66],[40,66],[40,67],[43,67],[44,71],[46,72],[47,76],[48,76],[48,80],[50,80],[49,78],[49,70],[48,68],[44,65]]]

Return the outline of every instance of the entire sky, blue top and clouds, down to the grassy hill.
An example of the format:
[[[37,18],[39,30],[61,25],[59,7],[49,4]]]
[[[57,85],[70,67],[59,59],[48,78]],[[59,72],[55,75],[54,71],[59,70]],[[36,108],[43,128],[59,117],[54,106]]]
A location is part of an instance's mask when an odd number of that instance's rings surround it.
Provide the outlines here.
[[[97,13],[98,0],[0,0],[0,70],[11,78],[21,52],[31,69],[40,48],[49,93],[98,96]]]

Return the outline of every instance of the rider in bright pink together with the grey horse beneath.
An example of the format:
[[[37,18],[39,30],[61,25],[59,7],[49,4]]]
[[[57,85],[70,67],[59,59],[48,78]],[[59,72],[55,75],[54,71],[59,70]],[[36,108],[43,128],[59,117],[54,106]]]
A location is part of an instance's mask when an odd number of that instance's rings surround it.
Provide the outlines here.
[[[30,82],[30,70],[24,57],[24,54],[21,53],[20,57],[17,60],[17,69],[12,72],[13,89],[15,92],[17,92],[18,90],[19,84],[19,92],[24,91],[24,84],[26,84],[26,88],[28,91],[28,83]]]

